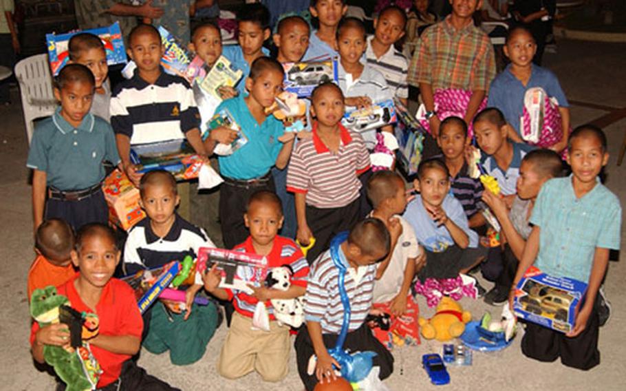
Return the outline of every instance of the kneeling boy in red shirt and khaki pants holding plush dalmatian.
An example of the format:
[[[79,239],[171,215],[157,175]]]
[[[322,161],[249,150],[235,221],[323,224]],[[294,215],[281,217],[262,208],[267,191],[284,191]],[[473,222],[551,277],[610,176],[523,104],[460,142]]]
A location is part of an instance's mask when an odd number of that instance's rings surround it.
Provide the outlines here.
[[[277,233],[283,225],[281,200],[270,191],[257,191],[250,196],[248,211],[244,215],[250,236],[235,246],[235,251],[264,255],[269,268],[288,265],[292,268],[292,282],[288,290],[254,288],[252,293],[243,290],[219,288],[221,274],[213,265],[204,277],[204,287],[222,300],[233,300],[235,314],[217,360],[217,372],[228,379],[237,379],[256,370],[264,381],[281,381],[287,376],[289,327],[280,325],[274,317],[270,299],[292,299],[303,296],[309,266],[300,247]],[[270,315],[270,330],[252,330],[252,315],[257,302],[266,302]]]

